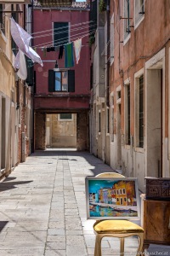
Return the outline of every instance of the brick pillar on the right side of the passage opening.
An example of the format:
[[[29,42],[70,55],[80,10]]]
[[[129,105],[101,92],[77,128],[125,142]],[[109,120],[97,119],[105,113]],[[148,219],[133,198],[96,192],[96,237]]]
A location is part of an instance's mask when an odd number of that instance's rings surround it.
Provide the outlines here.
[[[77,113],[77,150],[88,150],[88,111]]]

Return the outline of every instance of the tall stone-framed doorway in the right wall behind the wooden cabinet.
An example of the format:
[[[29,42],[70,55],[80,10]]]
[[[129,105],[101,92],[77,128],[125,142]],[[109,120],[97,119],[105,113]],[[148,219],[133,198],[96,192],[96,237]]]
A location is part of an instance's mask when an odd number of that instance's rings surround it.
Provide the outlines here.
[[[147,69],[146,176],[150,177],[162,177],[162,84],[162,66]]]

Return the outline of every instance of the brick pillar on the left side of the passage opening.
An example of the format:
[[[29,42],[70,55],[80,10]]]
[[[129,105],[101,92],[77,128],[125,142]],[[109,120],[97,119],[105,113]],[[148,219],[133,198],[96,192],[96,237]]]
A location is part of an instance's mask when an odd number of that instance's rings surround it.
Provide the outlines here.
[[[35,149],[45,149],[45,113],[35,113]]]

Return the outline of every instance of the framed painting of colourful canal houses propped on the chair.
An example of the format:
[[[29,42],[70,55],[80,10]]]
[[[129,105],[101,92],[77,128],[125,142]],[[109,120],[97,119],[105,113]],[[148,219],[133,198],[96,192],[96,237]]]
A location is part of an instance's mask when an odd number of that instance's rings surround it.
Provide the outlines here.
[[[87,218],[140,218],[137,178],[86,177]]]

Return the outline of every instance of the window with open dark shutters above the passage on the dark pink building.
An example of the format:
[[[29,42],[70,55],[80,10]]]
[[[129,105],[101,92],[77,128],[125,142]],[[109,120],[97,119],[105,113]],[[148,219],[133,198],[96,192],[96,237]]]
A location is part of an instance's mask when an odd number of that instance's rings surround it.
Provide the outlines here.
[[[75,71],[48,70],[48,91],[75,91]]]

